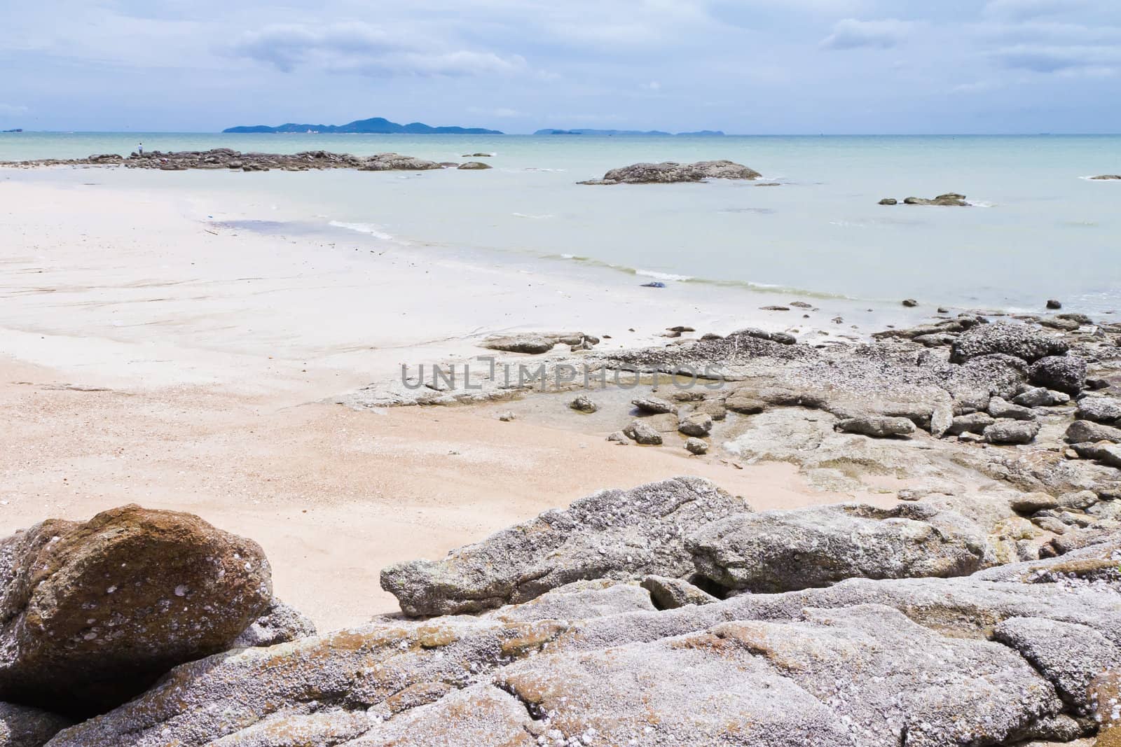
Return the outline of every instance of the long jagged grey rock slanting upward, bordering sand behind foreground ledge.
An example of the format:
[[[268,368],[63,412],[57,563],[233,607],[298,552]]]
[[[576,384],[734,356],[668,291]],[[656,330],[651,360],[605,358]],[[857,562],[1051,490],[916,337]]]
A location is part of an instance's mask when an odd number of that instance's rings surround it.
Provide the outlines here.
[[[693,477],[602,491],[443,560],[390,566],[381,586],[407,615],[448,615],[527,601],[582,579],[686,578],[694,567],[683,534],[745,511],[740,498]]]

